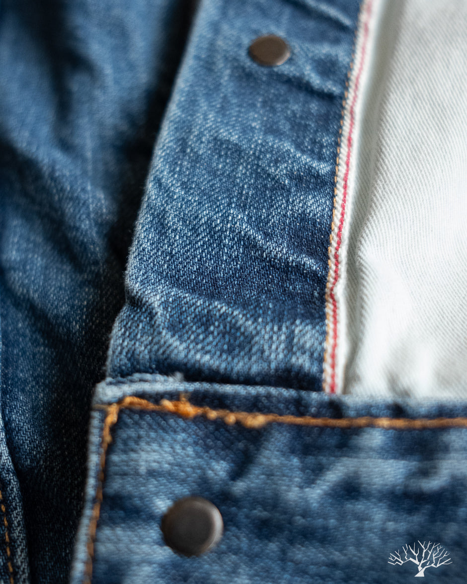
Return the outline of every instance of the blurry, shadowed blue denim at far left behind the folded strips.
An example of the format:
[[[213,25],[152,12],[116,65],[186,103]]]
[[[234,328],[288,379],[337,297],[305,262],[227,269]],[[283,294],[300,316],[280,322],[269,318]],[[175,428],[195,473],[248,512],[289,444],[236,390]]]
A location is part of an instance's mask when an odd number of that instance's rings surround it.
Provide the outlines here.
[[[124,304],[127,250],[189,8],[0,6],[2,582],[68,580],[92,390]]]

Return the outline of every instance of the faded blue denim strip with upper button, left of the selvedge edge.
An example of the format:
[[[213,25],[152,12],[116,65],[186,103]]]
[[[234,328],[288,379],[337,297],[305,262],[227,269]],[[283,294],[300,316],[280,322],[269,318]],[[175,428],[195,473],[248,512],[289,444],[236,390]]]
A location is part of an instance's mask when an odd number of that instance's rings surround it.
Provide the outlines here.
[[[320,390],[337,138],[359,2],[200,5],[107,374]],[[287,39],[280,67],[248,56]]]

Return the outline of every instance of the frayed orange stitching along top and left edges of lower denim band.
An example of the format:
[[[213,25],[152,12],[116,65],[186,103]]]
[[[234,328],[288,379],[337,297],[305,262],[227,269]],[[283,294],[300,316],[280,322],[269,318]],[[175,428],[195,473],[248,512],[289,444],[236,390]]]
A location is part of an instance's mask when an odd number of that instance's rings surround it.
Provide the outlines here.
[[[106,411],[106,417],[104,419],[102,430],[99,475],[97,477],[95,503],[93,505],[88,529],[88,543],[86,544],[88,559],[85,565],[83,584],[91,583],[97,522],[99,521],[100,506],[102,505],[103,499],[104,470],[107,449],[112,442],[111,429],[116,425],[121,409],[139,409],[141,411],[172,413],[185,419],[193,419],[196,418],[196,416],[203,416],[211,421],[221,420],[229,426],[239,423],[249,429],[259,429],[270,423],[341,429],[377,427],[384,430],[431,430],[451,427],[467,427],[467,417],[434,419],[378,418],[376,416],[360,416],[358,418],[314,418],[313,416],[281,415],[278,413],[235,412],[228,409],[212,409],[207,406],[190,404],[186,395],[183,393],[180,394],[178,400],[171,401],[169,399],[161,399],[159,404],[153,404],[147,399],[128,395],[119,402],[110,405],[98,405],[96,408],[104,409]],[[4,507],[2,507],[2,510],[4,510]],[[11,584],[13,584],[13,580],[11,579],[10,581]]]

